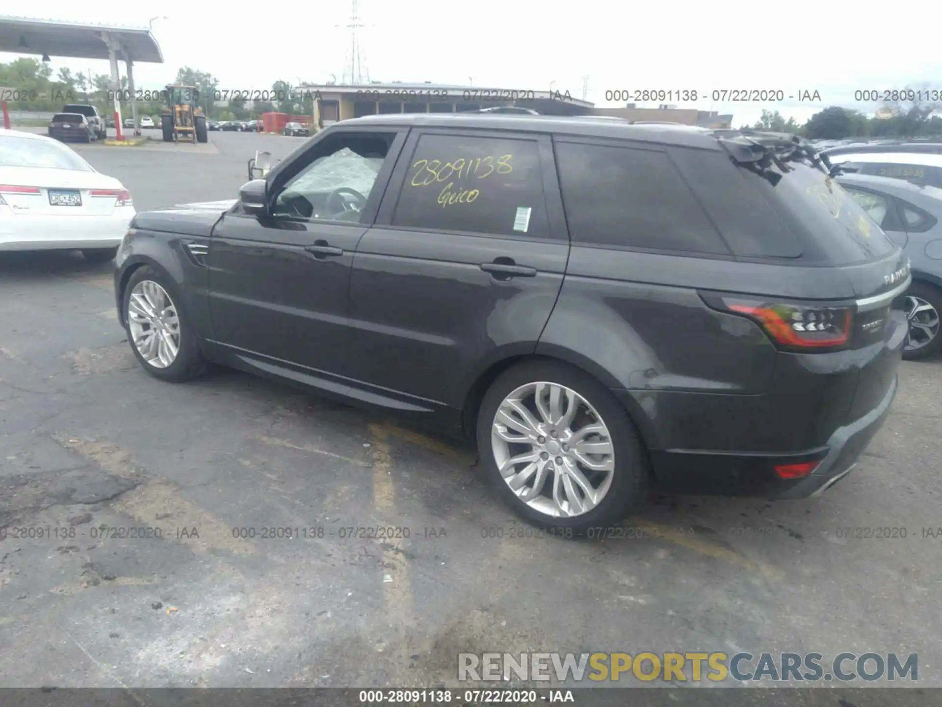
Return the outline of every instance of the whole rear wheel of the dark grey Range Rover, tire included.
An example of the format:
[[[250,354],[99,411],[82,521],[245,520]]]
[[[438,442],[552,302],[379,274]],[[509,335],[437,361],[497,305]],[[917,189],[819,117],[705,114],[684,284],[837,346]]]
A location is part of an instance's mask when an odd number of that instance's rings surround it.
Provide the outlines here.
[[[536,525],[610,525],[647,496],[647,457],[625,408],[593,377],[560,362],[501,373],[481,402],[477,437],[498,492]]]

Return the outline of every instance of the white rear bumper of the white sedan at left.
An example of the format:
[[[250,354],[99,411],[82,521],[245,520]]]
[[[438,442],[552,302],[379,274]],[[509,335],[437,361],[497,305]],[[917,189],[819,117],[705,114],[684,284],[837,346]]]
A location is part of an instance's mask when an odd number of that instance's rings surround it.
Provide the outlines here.
[[[25,216],[0,219],[0,251],[113,248],[121,244],[134,218],[133,206],[108,216]]]

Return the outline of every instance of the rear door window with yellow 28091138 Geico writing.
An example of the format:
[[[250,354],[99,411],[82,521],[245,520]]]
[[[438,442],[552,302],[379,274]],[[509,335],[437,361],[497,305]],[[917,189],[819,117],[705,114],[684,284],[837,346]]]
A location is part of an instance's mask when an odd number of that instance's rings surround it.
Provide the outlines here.
[[[546,238],[536,140],[422,135],[392,225]]]

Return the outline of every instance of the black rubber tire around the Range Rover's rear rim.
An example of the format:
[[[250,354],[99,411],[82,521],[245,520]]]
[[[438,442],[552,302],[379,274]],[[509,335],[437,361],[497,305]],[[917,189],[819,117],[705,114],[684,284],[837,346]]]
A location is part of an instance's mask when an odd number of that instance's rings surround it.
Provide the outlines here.
[[[491,446],[492,424],[500,403],[513,390],[536,381],[557,383],[575,390],[592,404],[605,421],[615,454],[608,494],[592,510],[570,518],[555,518],[528,506],[513,493],[500,475]],[[647,452],[625,407],[592,376],[559,361],[547,359],[524,362],[505,370],[488,388],[478,412],[477,442],[480,463],[486,469],[500,496],[513,512],[542,528],[571,529],[573,533],[588,528],[619,523],[648,497],[651,471]],[[547,486],[552,478],[547,479]]]

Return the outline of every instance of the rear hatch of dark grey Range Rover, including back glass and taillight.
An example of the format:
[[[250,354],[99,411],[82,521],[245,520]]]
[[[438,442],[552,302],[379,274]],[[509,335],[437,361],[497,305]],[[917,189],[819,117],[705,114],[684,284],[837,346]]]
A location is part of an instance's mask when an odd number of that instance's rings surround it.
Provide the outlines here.
[[[846,371],[857,372],[845,416],[852,421],[884,399],[896,376],[909,260],[830,176],[814,148],[792,140],[751,136],[721,142],[745,177],[743,189],[755,197],[750,205],[767,209],[762,221],[787,255],[780,262],[800,269],[807,291],[815,293],[815,301],[776,308],[771,315],[780,318],[775,325],[788,340],[783,348],[810,354],[808,366],[815,355],[833,352]],[[774,294],[774,283],[770,289]],[[834,293],[830,301],[822,299],[828,291]]]

